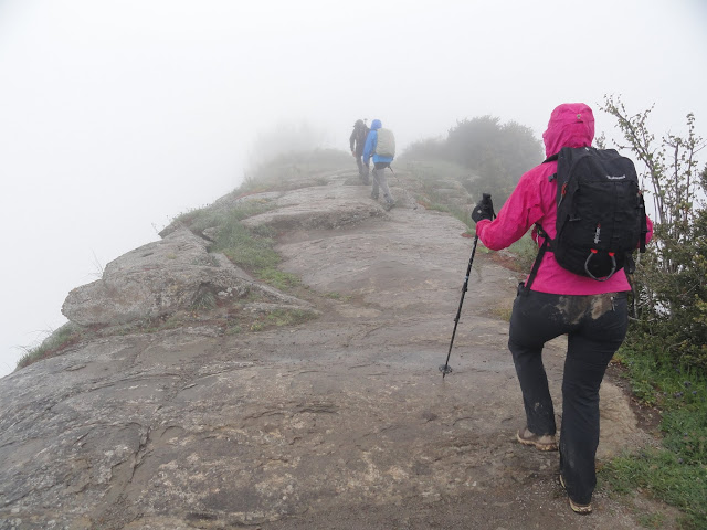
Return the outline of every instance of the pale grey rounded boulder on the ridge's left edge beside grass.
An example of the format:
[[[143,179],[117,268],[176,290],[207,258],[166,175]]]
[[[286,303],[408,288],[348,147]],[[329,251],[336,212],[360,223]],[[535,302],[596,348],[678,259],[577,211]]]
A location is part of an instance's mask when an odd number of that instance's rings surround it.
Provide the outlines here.
[[[258,284],[208,242],[187,229],[140,246],[110,262],[103,277],[73,289],[62,312],[81,326],[116,326],[189,309],[207,293],[242,297],[257,290],[298,307],[309,304]]]

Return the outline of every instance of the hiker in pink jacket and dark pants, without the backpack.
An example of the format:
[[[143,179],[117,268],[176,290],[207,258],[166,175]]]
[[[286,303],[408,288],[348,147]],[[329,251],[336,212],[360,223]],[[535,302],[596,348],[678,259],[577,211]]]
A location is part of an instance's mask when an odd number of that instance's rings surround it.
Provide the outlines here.
[[[562,147],[588,147],[594,139],[594,117],[587,105],[563,104],[550,116],[544,132],[548,157]],[[478,239],[490,250],[502,250],[539,224],[556,237],[557,161],[546,161],[526,172],[494,219],[493,204],[479,202],[472,213]],[[647,239],[652,235],[647,220]],[[534,239],[538,241],[537,229]],[[560,483],[570,507],[592,510],[597,485],[594,458],[599,445],[599,386],[606,365],[626,335],[627,292],[623,269],[605,282],[562,268],[552,252],[542,255],[529,289],[520,284],[510,317],[508,348],[523,392],[527,425],[516,437],[540,451],[557,451],[555,410],[542,365],[542,347],[568,335],[562,380]]]

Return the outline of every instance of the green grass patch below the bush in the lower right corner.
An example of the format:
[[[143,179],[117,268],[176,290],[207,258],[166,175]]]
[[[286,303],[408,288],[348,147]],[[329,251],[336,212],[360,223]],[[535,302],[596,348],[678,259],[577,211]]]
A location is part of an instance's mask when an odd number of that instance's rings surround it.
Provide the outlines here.
[[[611,460],[600,479],[618,494],[641,488],[678,508],[682,528],[707,528],[707,378],[651,351],[623,348],[616,357],[636,396],[663,412],[663,439]]]

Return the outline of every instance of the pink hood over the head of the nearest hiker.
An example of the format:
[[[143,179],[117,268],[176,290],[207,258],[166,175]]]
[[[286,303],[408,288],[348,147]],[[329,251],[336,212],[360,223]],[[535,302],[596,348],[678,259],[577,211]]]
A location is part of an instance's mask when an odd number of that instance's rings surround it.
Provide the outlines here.
[[[589,147],[594,139],[594,115],[583,103],[563,103],[552,110],[548,128],[542,132],[545,156],[563,147]]]

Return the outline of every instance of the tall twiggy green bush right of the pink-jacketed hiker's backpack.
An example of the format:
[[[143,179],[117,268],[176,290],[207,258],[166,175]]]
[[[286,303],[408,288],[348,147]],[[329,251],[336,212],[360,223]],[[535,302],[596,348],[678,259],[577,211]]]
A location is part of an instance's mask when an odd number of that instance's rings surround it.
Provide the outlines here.
[[[707,369],[707,168],[698,173],[705,147],[687,115],[687,136],[668,134],[657,144],[647,128],[651,107],[631,115],[619,97],[604,96],[602,110],[637,158],[654,216],[654,239],[641,259],[635,284],[641,315],[631,338],[671,361]]]

